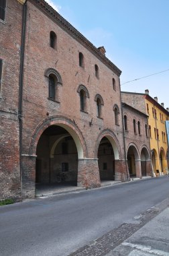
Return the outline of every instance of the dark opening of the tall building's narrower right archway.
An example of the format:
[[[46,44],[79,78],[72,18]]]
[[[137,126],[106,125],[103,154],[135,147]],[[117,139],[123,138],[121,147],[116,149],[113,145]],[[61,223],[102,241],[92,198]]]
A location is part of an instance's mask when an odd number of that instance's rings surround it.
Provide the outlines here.
[[[107,137],[103,137],[98,149],[98,164],[101,181],[115,180],[115,155]]]

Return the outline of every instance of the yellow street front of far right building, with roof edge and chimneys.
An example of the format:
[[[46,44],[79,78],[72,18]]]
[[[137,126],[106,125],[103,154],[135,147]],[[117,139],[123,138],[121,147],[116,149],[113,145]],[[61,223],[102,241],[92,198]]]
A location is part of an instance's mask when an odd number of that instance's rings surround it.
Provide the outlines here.
[[[152,165],[156,176],[167,174],[167,135],[165,121],[169,119],[168,110],[164,108],[164,104],[158,103],[158,98],[152,98],[145,91],[146,111],[148,115],[148,128],[150,135],[150,150],[152,154]]]

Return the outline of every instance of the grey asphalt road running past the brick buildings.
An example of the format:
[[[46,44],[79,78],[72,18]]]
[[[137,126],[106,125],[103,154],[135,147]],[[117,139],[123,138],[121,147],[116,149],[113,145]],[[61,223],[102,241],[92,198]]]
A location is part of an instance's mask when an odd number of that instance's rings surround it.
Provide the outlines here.
[[[0,255],[68,255],[166,199],[169,177],[0,207]]]

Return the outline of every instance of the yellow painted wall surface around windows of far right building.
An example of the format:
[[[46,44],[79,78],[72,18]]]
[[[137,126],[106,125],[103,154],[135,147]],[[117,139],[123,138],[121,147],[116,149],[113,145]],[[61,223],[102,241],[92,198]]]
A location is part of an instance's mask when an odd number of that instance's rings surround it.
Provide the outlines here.
[[[152,101],[154,103],[152,103]],[[155,152],[155,159],[156,159],[156,168],[154,166],[154,173],[158,174],[156,170],[159,170],[160,175],[162,175],[162,169],[163,174],[167,173],[167,160],[166,160],[166,152],[167,152],[167,137],[166,137],[166,126],[164,121],[168,120],[168,115],[166,115],[165,111],[162,111],[162,108],[158,106],[156,103],[156,100],[148,100],[146,98],[146,111],[148,115],[148,125],[151,126],[151,137],[150,137],[150,150],[154,150]],[[148,104],[148,107],[147,107]],[[152,108],[154,108],[154,115]],[[156,110],[156,118],[155,118],[155,110]],[[163,115],[163,121],[160,120],[160,114],[161,117]],[[155,137],[154,128],[158,129],[159,137],[158,139]],[[162,132],[165,133],[165,141],[164,138],[162,139]],[[162,150],[164,149],[164,151]],[[162,160],[160,160],[160,152],[162,154]]]

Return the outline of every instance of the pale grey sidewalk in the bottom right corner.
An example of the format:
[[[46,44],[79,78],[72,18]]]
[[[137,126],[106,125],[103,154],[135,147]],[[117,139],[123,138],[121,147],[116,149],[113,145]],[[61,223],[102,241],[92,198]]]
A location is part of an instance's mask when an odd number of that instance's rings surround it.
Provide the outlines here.
[[[106,256],[169,256],[169,207]]]

